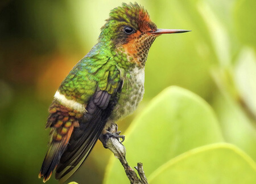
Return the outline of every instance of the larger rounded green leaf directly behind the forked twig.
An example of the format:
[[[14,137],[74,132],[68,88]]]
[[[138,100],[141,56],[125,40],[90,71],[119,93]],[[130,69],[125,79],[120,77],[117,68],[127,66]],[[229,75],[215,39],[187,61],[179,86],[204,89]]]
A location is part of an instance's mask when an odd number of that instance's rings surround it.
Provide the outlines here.
[[[155,97],[125,133],[130,166],[142,162],[146,176],[168,160],[196,147],[222,142],[210,106],[180,87],[169,87]],[[117,159],[110,160],[104,183],[127,183]]]

